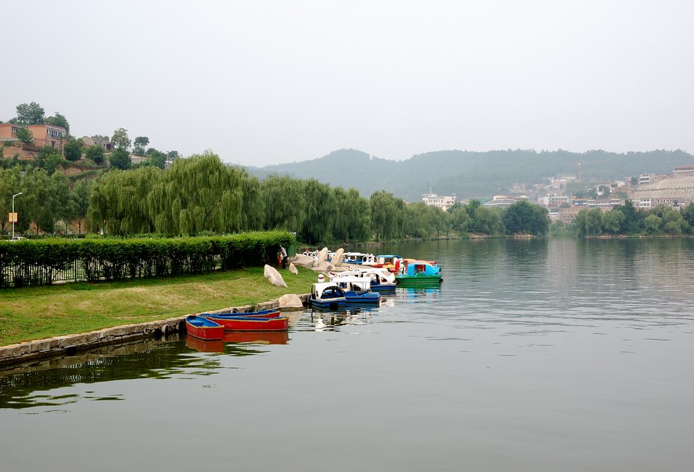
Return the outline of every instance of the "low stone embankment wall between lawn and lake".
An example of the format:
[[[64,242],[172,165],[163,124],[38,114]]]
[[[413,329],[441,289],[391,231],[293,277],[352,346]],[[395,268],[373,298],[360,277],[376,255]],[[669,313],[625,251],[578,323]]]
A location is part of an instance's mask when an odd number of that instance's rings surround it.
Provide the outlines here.
[[[307,303],[308,294],[298,296],[302,303]],[[228,307],[223,310],[214,310],[209,313],[247,312],[252,308],[265,310],[268,308],[278,308],[280,303],[277,300],[258,303],[255,307],[250,305],[240,307]],[[294,308],[296,310],[296,308]],[[118,344],[137,338],[160,337],[170,332],[185,331],[185,316],[162,319],[159,321],[148,321],[146,323],[116,326],[115,328],[105,328],[103,330],[84,332],[79,335],[66,335],[51,337],[49,339],[38,339],[36,341],[10,344],[10,346],[0,347],[0,368],[19,362],[39,360],[44,357],[74,355],[81,351],[92,348],[106,346],[108,344]]]

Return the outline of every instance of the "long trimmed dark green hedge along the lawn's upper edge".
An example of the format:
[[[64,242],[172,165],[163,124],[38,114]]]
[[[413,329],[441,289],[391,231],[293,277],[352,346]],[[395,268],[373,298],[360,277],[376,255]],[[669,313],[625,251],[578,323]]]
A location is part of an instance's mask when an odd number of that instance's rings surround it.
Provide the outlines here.
[[[54,280],[127,280],[276,264],[281,231],[176,239],[36,239],[0,242],[0,287]]]

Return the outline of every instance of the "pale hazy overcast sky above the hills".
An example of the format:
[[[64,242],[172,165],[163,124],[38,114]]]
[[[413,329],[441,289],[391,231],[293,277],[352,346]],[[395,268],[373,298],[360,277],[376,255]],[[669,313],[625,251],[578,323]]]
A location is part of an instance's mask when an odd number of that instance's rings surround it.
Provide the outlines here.
[[[269,165],[694,153],[694,1],[8,1],[0,119]]]

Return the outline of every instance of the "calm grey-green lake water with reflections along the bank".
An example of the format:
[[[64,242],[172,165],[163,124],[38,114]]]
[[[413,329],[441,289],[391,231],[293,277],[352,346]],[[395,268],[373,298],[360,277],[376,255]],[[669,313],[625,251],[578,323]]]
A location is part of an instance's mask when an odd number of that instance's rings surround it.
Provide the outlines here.
[[[0,470],[694,469],[694,240],[379,251],[443,283],[0,371]]]

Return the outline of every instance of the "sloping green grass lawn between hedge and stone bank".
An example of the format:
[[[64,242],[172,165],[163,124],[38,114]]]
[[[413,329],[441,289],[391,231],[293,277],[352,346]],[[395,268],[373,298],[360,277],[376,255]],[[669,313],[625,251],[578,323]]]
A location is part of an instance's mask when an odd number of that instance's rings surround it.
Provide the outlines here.
[[[69,283],[0,290],[0,346],[132,323],[253,305],[310,292],[316,273],[280,270],[289,287],[274,287],[262,267],[119,283]]]

